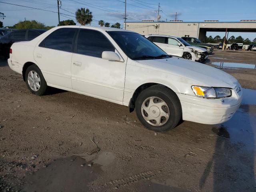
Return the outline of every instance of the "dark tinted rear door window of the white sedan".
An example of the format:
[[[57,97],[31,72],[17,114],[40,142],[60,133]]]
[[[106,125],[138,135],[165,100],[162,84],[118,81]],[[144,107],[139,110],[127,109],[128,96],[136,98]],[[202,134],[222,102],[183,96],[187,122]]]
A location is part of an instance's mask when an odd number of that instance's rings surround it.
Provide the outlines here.
[[[72,52],[76,31],[76,28],[58,29],[48,35],[44,40],[44,44],[42,45],[41,43],[39,46]]]

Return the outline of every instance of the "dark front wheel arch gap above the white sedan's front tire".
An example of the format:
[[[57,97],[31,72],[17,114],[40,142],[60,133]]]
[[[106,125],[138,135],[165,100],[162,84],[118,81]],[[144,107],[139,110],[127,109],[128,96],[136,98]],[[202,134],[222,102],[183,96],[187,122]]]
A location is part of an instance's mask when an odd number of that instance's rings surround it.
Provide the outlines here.
[[[145,90],[145,89],[147,89],[147,88],[149,88],[151,86],[154,86],[154,85],[159,85],[159,86],[166,87],[166,88],[172,90],[176,94],[176,92],[173,90],[173,88],[170,88],[169,86],[166,86],[164,84],[160,84],[160,83],[156,83],[156,82],[144,83],[144,84],[140,85],[138,88],[136,88],[136,90],[134,91],[134,93],[132,95],[132,98],[130,99],[130,102],[129,102],[129,105],[128,105],[130,112],[134,111],[136,99],[138,98],[139,94],[143,90]]]

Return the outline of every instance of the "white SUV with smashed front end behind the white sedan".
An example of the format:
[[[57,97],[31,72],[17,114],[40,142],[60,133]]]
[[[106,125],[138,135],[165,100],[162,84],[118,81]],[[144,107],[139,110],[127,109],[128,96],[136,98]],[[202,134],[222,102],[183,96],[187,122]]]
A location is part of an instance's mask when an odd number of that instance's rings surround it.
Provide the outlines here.
[[[208,58],[206,49],[191,46],[182,38],[168,35],[146,35],[145,37],[169,55],[199,62],[204,62]]]

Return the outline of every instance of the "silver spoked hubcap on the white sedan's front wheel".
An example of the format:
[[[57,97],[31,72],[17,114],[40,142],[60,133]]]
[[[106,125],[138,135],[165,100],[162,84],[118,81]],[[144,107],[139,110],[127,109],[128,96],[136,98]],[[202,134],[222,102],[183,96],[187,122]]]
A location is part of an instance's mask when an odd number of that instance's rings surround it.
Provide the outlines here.
[[[168,105],[158,97],[146,98],[142,103],[141,113],[146,122],[153,126],[166,124],[170,116]]]

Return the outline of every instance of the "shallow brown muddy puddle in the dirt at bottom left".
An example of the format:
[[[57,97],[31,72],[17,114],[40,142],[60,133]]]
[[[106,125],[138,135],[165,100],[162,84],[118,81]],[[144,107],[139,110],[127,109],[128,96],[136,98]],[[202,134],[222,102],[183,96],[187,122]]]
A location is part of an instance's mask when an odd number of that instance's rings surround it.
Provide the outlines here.
[[[100,173],[102,173],[100,165],[87,162],[79,156],[62,158],[27,176],[22,191],[88,191],[90,183]]]

